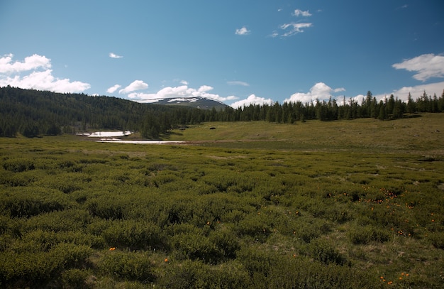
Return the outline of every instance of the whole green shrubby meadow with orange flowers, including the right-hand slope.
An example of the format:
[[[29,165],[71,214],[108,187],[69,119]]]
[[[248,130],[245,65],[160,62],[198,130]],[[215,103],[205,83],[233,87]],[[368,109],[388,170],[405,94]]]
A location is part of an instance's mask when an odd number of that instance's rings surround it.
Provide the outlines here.
[[[444,114],[165,139],[0,138],[0,287],[443,287]]]

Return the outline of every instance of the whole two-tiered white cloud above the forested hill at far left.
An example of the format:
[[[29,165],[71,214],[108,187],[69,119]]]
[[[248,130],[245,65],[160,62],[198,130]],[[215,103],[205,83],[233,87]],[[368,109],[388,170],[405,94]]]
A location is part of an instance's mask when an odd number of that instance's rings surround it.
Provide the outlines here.
[[[11,85],[52,92],[84,92],[91,87],[85,82],[54,77],[50,70],[51,60],[45,56],[34,54],[26,57],[23,62],[12,62],[12,58],[12,54],[0,58],[0,87]]]

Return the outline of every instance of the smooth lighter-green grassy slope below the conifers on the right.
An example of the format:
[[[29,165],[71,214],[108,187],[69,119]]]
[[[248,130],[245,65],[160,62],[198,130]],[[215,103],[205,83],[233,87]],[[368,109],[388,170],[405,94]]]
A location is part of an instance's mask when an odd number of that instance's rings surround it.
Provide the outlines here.
[[[209,130],[210,127],[216,129]],[[441,133],[440,133],[441,132]],[[255,122],[215,122],[174,131],[172,141],[232,141],[225,146],[238,147],[241,141],[250,148],[287,148],[296,150],[421,153],[442,155],[444,118],[441,114],[378,121],[308,121],[294,125]],[[254,141],[254,143],[251,143]],[[271,141],[271,143],[270,143]],[[265,145],[264,143],[267,143]],[[208,144],[207,144],[208,145]],[[216,145],[218,146],[218,145]]]

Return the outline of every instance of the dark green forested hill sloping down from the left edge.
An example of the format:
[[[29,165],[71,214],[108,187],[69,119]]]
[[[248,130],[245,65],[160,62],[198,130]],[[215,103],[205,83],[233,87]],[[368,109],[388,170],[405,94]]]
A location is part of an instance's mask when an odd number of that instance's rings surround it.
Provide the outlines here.
[[[140,131],[145,138],[158,138],[174,126],[199,122],[200,114],[200,109],[140,104],[117,97],[0,88],[0,136],[128,129]]]

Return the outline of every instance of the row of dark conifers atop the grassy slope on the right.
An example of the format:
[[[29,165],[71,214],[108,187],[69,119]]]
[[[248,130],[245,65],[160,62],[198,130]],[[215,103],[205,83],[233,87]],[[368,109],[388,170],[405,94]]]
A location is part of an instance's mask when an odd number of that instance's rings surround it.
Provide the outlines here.
[[[401,119],[406,115],[424,112],[443,112],[444,92],[441,97],[436,94],[431,97],[426,92],[416,100],[411,97],[407,102],[395,98],[394,95],[377,101],[372,92],[361,103],[355,99],[328,99],[328,101],[310,102],[274,102],[272,105],[250,104],[239,109],[227,107],[225,111],[211,111],[211,121],[270,121],[293,124],[296,121],[318,119],[321,121],[334,121],[339,119]]]

